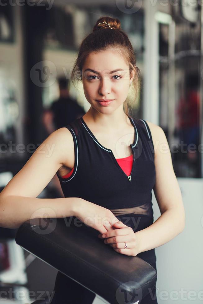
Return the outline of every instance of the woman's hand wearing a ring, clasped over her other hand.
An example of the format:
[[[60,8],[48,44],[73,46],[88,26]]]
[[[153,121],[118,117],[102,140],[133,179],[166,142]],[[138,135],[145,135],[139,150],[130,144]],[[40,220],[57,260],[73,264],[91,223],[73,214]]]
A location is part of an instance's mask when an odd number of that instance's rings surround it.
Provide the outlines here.
[[[104,243],[109,244],[118,253],[136,257],[139,251],[139,238],[131,227],[126,226],[121,221],[113,224],[113,230],[105,232],[103,237],[98,235],[100,239],[105,239]],[[127,248],[125,248],[125,243]]]

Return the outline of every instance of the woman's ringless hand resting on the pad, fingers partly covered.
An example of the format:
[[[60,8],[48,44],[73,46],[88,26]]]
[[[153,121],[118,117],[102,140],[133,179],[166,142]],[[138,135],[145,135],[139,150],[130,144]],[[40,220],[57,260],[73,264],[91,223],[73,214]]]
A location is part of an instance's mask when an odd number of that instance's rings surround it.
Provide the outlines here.
[[[113,230],[113,224],[119,221],[109,209],[85,199],[82,199],[76,208],[75,216],[85,225],[98,230],[101,234]]]

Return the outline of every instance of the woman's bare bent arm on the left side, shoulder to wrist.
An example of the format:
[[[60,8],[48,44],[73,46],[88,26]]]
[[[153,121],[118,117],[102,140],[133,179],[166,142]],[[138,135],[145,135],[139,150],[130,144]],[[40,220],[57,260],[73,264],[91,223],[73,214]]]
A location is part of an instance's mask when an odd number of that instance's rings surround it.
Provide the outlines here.
[[[67,128],[50,134],[0,193],[0,226],[18,228],[24,221],[35,217],[77,215],[81,198],[37,198],[73,155],[73,138]]]

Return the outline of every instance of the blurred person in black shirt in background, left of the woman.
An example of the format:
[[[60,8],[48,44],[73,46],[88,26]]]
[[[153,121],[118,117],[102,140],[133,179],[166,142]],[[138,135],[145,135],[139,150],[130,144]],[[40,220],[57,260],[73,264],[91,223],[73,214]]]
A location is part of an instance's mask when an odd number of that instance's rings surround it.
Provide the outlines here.
[[[59,99],[53,101],[50,108],[44,110],[43,123],[48,134],[85,114],[83,108],[69,96],[68,83],[69,80],[65,77],[58,79]]]

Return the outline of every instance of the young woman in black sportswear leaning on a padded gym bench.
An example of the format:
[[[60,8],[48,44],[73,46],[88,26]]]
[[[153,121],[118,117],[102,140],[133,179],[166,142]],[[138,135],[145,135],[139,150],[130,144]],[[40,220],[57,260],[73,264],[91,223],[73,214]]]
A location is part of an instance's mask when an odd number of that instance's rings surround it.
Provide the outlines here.
[[[99,18],[81,43],[72,80],[76,75],[90,109],[50,134],[4,188],[1,225],[16,228],[44,213],[88,218],[115,253],[141,257],[156,269],[155,248],[182,232],[185,212],[163,130],[128,115],[139,69],[118,19]],[[65,197],[37,199],[55,173]],[[152,189],[161,212],[154,223]],[[95,221],[97,216],[108,221]],[[54,290],[53,304],[95,298],[60,272]],[[139,302],[145,303],[157,303],[156,287]]]

